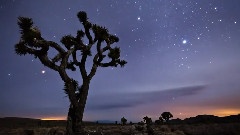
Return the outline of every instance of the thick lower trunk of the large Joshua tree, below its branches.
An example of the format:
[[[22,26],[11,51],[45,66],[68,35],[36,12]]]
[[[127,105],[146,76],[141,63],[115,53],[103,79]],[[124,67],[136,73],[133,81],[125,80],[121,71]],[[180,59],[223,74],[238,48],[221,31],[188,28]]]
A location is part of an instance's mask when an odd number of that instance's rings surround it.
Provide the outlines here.
[[[68,120],[67,120],[67,135],[85,135],[84,125],[83,125],[83,113],[87,101],[87,95],[89,90],[89,81],[83,83],[79,97],[77,98],[77,103],[72,103],[68,110]],[[70,96],[70,95],[68,95]],[[70,99],[70,97],[69,97]]]

